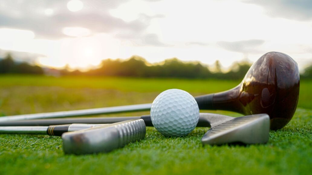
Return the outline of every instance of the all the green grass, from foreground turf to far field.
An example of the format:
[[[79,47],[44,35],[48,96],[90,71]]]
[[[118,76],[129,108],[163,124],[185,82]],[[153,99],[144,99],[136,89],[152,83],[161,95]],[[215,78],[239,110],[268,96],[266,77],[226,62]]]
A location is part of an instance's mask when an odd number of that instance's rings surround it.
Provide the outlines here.
[[[0,76],[0,83],[0,116],[5,116],[146,103],[169,88],[200,95],[239,82],[7,75]],[[200,138],[208,128],[196,128],[185,137],[164,137],[148,127],[140,142],[106,154],[75,156],[64,155],[59,137],[0,135],[0,174],[308,174],[312,172],[311,88],[311,82],[301,82],[295,116],[283,129],[270,131],[267,144],[202,146]]]

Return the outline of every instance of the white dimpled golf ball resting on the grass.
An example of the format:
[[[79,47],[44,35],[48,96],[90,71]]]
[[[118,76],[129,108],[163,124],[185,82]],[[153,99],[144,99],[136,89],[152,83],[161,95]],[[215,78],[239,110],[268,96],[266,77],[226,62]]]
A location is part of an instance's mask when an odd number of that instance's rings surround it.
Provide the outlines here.
[[[161,134],[188,135],[199,120],[199,108],[194,97],[180,89],[160,93],[151,107],[151,120]]]

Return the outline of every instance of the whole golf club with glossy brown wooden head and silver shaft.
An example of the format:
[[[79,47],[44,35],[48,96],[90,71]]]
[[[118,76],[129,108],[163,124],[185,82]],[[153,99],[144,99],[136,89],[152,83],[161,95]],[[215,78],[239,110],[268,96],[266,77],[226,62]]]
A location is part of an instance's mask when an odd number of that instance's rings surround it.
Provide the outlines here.
[[[261,56],[242,82],[225,92],[195,97],[199,109],[228,110],[244,115],[266,113],[271,129],[283,128],[293,117],[299,99],[300,76],[297,63],[280,52]],[[99,115],[129,111],[148,111],[151,103],[129,106],[62,111],[0,117],[0,122],[37,118]]]

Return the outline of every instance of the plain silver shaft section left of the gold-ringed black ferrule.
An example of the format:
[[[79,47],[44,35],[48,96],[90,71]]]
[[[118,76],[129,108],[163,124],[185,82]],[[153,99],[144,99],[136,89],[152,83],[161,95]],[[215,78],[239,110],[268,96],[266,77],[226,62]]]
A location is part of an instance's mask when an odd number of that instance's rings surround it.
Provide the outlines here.
[[[0,134],[46,134],[48,126],[0,126]]]

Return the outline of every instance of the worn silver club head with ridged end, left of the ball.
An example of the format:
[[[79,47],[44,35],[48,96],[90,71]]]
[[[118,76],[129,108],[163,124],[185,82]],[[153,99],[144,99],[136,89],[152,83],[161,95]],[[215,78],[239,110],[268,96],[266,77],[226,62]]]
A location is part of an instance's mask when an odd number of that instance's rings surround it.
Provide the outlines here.
[[[92,154],[109,152],[130,142],[144,139],[146,132],[142,119],[122,121],[62,135],[65,154]]]

